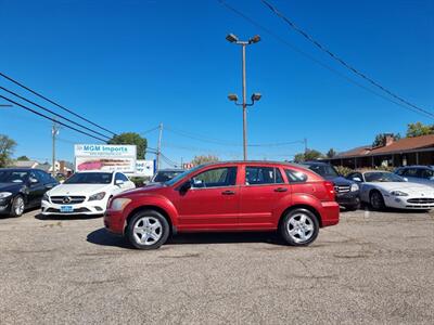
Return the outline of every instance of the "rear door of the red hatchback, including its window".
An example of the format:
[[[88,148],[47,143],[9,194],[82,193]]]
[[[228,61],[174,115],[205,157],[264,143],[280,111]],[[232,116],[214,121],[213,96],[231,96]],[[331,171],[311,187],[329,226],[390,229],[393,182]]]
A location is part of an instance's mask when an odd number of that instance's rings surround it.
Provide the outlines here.
[[[244,167],[241,186],[240,229],[269,229],[276,224],[275,209],[290,195],[280,168],[273,166]]]

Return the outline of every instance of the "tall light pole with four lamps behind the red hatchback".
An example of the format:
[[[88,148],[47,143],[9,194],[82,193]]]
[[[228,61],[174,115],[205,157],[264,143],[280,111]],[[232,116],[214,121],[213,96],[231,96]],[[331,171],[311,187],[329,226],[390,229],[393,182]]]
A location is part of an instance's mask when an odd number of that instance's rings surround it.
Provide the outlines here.
[[[247,104],[247,87],[246,87],[246,76],[245,76],[245,48],[246,46],[257,43],[260,40],[260,37],[256,35],[251,38],[248,41],[240,41],[237,36],[233,34],[229,34],[226,39],[231,42],[241,46],[241,54],[242,54],[242,92],[243,92],[243,102],[241,104],[237,103],[238,96],[235,94],[229,94],[229,100],[234,101],[235,105],[240,105],[243,107],[243,157],[244,160],[247,160],[247,106],[252,106],[255,101],[260,100],[259,93],[254,93],[252,95],[252,103]]]

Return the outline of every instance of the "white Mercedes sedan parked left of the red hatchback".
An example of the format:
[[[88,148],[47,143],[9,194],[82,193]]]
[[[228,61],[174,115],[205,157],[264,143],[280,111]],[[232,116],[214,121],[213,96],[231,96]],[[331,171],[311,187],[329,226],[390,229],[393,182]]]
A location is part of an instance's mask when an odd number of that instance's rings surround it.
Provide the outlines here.
[[[41,213],[103,214],[112,196],[135,187],[122,172],[77,172],[43,195]]]

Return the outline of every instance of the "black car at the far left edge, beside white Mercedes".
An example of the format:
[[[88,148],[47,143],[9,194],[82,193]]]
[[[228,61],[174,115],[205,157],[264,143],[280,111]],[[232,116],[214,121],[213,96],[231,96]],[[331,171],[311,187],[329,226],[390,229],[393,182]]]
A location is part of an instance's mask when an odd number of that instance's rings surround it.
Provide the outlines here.
[[[21,217],[39,207],[43,194],[59,182],[39,169],[0,168],[0,214]]]

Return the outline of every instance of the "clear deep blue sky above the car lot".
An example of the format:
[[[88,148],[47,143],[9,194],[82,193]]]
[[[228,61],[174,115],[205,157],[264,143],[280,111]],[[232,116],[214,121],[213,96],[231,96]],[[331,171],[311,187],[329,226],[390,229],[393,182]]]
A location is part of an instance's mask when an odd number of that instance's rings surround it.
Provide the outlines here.
[[[434,1],[269,1],[360,72],[434,113]],[[434,122],[362,88],[373,89],[259,0],[226,2],[272,35],[217,0],[0,0],[0,72],[116,133],[162,122],[162,152],[177,162],[242,158],[242,109],[227,99],[241,98],[241,48],[228,32],[261,37],[246,50],[247,98],[263,94],[247,112],[248,143],[265,144],[248,147],[251,159],[291,159],[303,139],[309,148],[342,152],[378,133],[405,134],[409,122]],[[74,118],[3,78],[0,86]],[[17,142],[15,157],[51,160],[50,121],[0,107],[0,133]],[[156,147],[156,130],[143,136]],[[58,157],[73,161],[74,143],[95,142],[63,127]],[[285,142],[295,143],[277,145]]]

